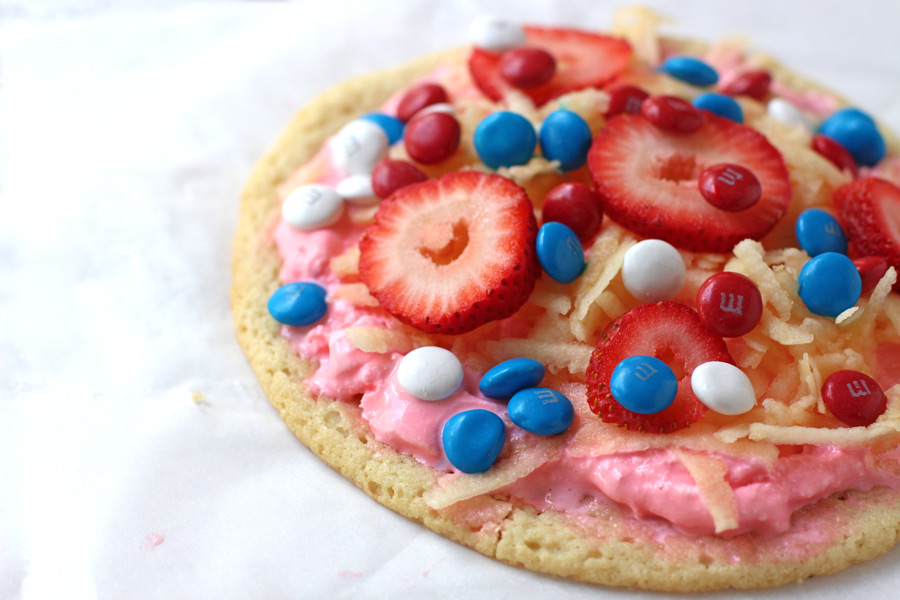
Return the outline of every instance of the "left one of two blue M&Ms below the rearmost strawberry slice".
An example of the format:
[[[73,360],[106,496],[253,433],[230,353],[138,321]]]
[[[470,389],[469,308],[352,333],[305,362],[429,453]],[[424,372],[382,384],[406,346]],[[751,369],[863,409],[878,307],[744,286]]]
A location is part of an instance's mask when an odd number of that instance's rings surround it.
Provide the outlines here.
[[[491,169],[524,165],[534,155],[537,134],[522,115],[500,111],[485,117],[475,128],[475,151]]]

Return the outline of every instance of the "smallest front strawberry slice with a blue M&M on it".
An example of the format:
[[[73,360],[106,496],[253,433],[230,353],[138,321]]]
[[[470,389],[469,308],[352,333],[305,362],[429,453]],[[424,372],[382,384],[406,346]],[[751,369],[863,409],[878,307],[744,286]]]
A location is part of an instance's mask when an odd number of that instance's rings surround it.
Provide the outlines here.
[[[667,409],[650,415],[632,412],[609,391],[612,372],[629,356],[655,356],[678,378],[678,393]],[[587,370],[587,400],[605,423],[650,433],[671,433],[703,418],[706,406],[691,390],[691,373],[701,364],[734,364],[722,338],[706,328],[697,312],[679,302],[641,304],[612,323],[600,336]]]

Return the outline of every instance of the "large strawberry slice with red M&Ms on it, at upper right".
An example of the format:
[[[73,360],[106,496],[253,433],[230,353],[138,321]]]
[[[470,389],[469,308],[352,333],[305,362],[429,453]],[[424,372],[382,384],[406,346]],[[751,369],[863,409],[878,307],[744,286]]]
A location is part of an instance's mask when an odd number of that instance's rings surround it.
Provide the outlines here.
[[[704,200],[697,180],[717,163],[752,171],[762,186],[759,202],[727,212]],[[781,153],[754,129],[710,113],[693,133],[668,133],[641,115],[610,119],[594,139],[588,168],[611,219],[698,252],[730,252],[745,238],[761,239],[791,201]]]

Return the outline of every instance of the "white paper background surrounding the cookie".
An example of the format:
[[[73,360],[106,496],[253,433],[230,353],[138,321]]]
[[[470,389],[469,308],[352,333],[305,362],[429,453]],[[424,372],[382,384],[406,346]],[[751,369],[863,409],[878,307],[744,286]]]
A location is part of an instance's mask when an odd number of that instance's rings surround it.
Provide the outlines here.
[[[482,12],[603,28],[615,4],[0,0],[0,598],[639,597],[371,501],[282,425],[228,305],[243,181],[314,94]],[[900,3],[649,4],[900,130]],[[898,573],[895,550],[752,595],[887,598]]]

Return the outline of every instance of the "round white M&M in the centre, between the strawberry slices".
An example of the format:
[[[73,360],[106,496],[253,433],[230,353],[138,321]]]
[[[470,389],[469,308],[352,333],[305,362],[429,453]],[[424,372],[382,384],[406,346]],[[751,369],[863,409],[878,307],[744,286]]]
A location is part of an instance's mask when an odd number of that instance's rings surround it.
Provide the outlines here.
[[[638,242],[625,253],[622,283],[641,302],[671,300],[684,286],[684,259],[662,240]]]

